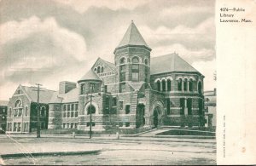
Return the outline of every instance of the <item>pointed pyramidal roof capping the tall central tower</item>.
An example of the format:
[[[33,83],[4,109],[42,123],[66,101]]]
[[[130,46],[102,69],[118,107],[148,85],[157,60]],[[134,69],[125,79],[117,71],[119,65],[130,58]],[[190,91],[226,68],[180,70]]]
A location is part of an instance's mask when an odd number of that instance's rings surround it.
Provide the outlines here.
[[[125,32],[125,36],[119,43],[118,47],[122,47],[125,45],[143,45],[148,47],[148,44],[143,39],[141,33],[137,30],[137,27],[135,26],[133,21],[131,21],[131,25]]]

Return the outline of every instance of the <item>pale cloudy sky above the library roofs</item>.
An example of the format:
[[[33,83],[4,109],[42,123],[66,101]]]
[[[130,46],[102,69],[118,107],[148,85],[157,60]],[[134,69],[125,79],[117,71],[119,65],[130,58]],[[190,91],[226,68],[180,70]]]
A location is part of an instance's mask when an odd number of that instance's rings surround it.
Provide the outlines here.
[[[22,85],[77,82],[134,21],[151,56],[176,52],[216,88],[213,0],[0,0],[0,100]]]

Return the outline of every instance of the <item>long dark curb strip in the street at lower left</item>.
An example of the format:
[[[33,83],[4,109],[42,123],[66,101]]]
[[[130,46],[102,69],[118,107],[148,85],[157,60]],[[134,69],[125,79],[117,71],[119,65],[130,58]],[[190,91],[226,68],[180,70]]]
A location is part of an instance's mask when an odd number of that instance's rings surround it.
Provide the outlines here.
[[[76,152],[32,152],[32,153],[14,153],[14,154],[2,154],[2,158],[13,158],[13,157],[39,157],[39,156],[72,156],[79,154],[98,154],[102,152],[102,150],[94,150],[94,151],[76,151]]]

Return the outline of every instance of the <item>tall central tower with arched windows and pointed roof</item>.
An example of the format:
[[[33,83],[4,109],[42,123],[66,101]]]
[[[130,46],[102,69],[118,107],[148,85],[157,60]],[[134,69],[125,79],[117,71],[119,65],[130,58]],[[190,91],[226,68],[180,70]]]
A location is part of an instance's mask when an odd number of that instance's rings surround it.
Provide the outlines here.
[[[149,83],[150,51],[148,44],[131,21],[125,36],[113,52],[120,91],[125,89],[127,81]]]

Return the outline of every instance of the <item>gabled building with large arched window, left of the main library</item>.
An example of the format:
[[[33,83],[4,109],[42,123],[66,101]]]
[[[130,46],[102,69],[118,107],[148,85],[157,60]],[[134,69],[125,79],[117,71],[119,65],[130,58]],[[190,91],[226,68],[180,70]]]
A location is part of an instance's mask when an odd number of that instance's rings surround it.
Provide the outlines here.
[[[41,129],[48,129],[49,100],[55,91],[42,89],[39,95]],[[9,99],[7,132],[28,133],[38,126],[38,92],[36,87],[19,85]]]

